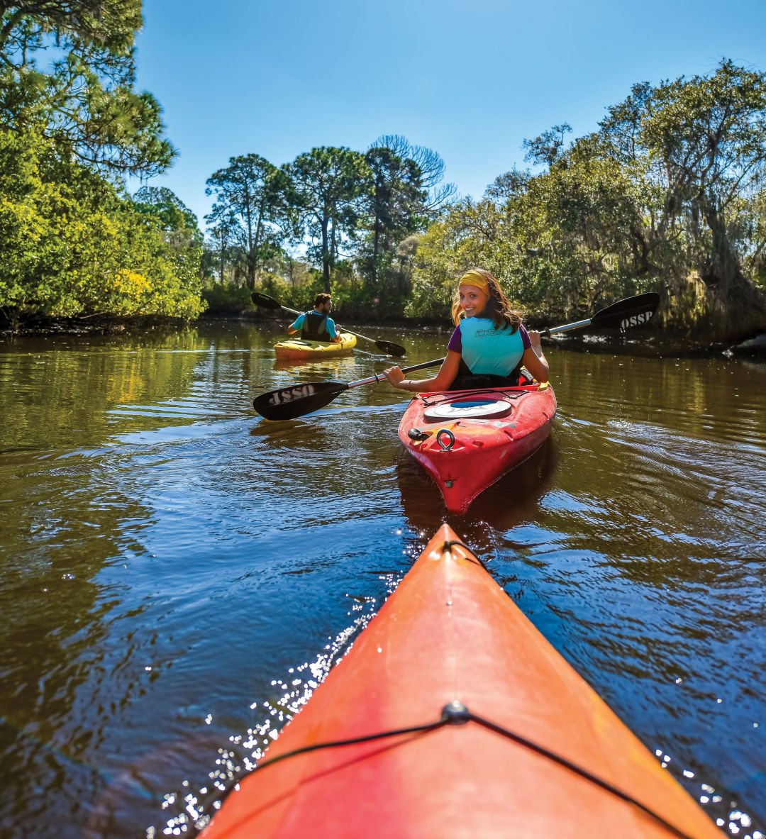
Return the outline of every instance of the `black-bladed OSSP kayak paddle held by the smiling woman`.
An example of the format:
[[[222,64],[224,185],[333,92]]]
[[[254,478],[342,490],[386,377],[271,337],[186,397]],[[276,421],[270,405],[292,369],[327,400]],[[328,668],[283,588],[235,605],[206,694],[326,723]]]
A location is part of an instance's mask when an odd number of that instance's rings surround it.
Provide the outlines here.
[[[274,301],[276,302],[276,301]],[[606,309],[597,311],[595,315],[587,320],[576,320],[564,326],[553,326],[550,329],[540,332],[540,335],[551,336],[555,332],[565,332],[570,329],[581,329],[584,326],[601,326],[607,329],[619,329],[621,332],[628,330],[631,326],[640,326],[646,323],[659,306],[659,294],[649,292],[648,294],[637,294],[635,297],[626,297],[625,300],[617,300]],[[430,362],[414,364],[412,367],[402,367],[402,373],[412,373],[414,370],[423,370],[425,367],[436,367],[443,362],[443,358],[435,358]],[[295,420],[312,411],[324,408],[332,402],[336,396],[351,388],[358,388],[362,384],[382,382],[386,378],[383,373],[369,378],[360,378],[357,382],[305,382],[294,384],[289,388],[278,388],[261,393],[253,399],[253,408],[258,414],[267,420]]]

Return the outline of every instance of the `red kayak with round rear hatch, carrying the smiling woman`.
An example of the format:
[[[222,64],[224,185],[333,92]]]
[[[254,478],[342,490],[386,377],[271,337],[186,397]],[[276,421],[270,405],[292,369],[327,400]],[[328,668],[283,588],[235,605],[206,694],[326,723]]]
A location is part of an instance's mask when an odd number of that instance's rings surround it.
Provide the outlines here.
[[[525,460],[550,434],[550,384],[418,393],[399,423],[399,440],[435,480],[451,513]]]

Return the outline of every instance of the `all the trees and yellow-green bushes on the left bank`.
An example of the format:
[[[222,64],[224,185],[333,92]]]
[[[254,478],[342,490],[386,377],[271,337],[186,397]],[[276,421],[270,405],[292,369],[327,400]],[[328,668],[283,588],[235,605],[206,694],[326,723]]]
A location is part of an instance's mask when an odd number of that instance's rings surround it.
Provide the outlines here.
[[[0,0],[0,314],[194,318],[201,233],[167,189],[175,150],[134,90],[140,0]]]

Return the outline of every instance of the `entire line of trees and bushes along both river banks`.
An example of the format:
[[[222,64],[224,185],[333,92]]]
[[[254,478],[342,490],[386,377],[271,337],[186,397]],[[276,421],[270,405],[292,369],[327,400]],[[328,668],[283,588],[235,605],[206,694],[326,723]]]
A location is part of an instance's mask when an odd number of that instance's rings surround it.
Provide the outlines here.
[[[177,154],[134,89],[141,0],[2,13],[0,331],[99,331],[252,316],[250,293],[349,324],[449,322],[455,279],[482,265],[531,326],[646,291],[647,334],[726,347],[766,331],[766,75],[639,82],[597,131],[524,141],[529,169],[481,198],[398,135],[276,165],[233,156],[206,181],[201,232],[144,185]],[[202,185],[201,185],[202,188]],[[253,313],[252,315],[250,313]]]

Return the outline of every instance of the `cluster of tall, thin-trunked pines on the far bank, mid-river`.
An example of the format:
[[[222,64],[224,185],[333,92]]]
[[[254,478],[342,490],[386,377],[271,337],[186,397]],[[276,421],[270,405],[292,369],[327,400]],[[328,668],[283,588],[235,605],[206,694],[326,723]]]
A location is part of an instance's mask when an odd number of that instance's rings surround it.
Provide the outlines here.
[[[317,290],[342,296],[347,283],[360,313],[374,306],[378,314],[400,315],[417,237],[455,194],[443,178],[444,161],[435,151],[398,135],[378,138],[365,154],[311,149],[279,169],[257,154],[232,158],[208,180],[216,204],[206,216],[206,263],[222,279],[238,275],[242,258],[251,287],[261,268],[264,282],[273,282],[268,272],[279,263],[292,283],[296,261],[287,250],[303,248],[320,272]],[[257,261],[248,253],[257,253]],[[336,280],[340,288],[333,288]]]

